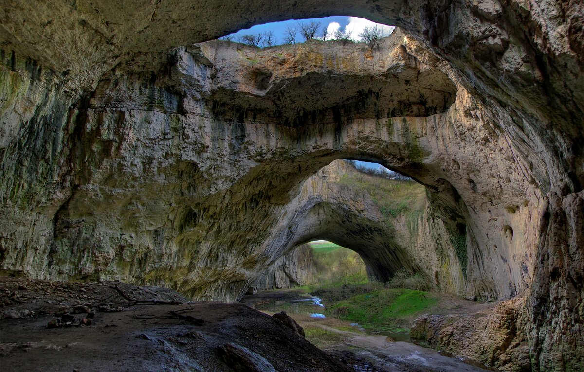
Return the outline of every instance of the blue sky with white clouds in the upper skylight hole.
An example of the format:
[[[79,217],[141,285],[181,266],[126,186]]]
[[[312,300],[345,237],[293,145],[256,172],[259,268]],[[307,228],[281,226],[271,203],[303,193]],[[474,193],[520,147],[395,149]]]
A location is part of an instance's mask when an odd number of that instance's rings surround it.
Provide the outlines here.
[[[240,30],[236,33],[231,34],[237,40],[238,36],[245,35],[245,34],[259,34],[265,31],[271,30],[274,33],[274,37],[276,38],[276,44],[281,44],[284,39],[284,31],[286,27],[296,26],[298,22],[308,22],[310,20],[317,20],[321,23],[321,29],[326,25],[329,34],[333,34],[334,31],[338,28],[341,30],[351,31],[351,37],[355,41],[359,41],[359,34],[365,27],[372,27],[378,23],[371,22],[370,20],[359,18],[359,17],[347,17],[347,16],[332,16],[332,17],[324,17],[324,18],[312,18],[306,20],[286,20],[283,22],[272,22],[266,24],[258,24],[257,26],[253,26],[249,29]],[[391,31],[394,29],[393,26],[387,26],[385,24],[378,24],[379,26],[383,27],[387,34],[390,34]],[[299,37],[299,39],[301,39]],[[299,40],[303,41],[303,40]]]

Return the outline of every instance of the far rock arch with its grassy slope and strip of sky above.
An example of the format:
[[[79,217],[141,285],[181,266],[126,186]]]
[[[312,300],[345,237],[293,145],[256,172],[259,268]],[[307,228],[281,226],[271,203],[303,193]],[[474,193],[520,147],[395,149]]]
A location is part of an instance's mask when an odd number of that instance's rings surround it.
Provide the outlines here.
[[[300,209],[281,225],[281,238],[274,241],[286,243],[274,250],[281,255],[324,239],[357,252],[367,275],[380,282],[405,272],[425,276],[436,289],[460,292],[467,265],[465,220],[456,212],[460,203],[381,166],[388,162],[376,157],[352,159],[361,160],[329,160],[312,176],[301,177],[299,188],[292,187]],[[447,208],[450,215],[443,213]]]

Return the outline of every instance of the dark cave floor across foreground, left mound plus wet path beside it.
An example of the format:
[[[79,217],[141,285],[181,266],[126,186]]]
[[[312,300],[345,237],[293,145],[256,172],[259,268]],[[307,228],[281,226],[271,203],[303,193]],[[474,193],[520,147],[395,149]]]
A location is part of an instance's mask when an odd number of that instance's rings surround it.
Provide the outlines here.
[[[342,348],[323,351],[245,304],[187,302],[163,287],[0,283],[0,365],[7,372],[481,371],[463,363],[451,369],[448,363],[457,359],[422,353],[410,343],[378,339],[372,345],[363,335],[345,335]],[[228,345],[244,355],[225,352]]]

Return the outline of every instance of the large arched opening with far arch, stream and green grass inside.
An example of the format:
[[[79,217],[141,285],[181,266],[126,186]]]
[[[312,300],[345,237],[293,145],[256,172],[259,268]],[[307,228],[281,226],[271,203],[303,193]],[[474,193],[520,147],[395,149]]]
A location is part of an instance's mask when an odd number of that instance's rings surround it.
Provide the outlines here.
[[[242,301],[409,341],[413,317],[449,311],[436,293],[452,295],[465,286],[466,262],[457,250],[466,257],[466,237],[455,239],[464,222],[436,214],[442,201],[425,185],[381,165],[392,164],[390,159],[353,154],[326,163],[301,178],[294,194],[310,196],[293,226],[283,224],[282,255],[254,285],[282,290],[282,297],[267,304],[256,304],[253,296]],[[308,297],[290,300],[289,287]],[[254,296],[261,299],[262,293]]]

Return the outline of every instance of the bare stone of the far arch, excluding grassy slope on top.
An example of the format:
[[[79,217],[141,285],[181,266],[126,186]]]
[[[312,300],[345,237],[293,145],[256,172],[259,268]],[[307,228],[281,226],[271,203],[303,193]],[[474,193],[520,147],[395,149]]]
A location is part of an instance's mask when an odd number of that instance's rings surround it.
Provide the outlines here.
[[[369,193],[341,182],[346,176],[359,177],[356,174],[352,166],[336,160],[304,183],[301,194],[310,196],[294,215],[293,237],[281,251],[286,254],[308,241],[325,239],[357,252],[369,275],[382,282],[404,270],[422,273],[444,292],[464,292],[452,232],[447,223],[433,218],[432,202],[423,196],[423,204],[410,211],[411,219],[389,220]]]

